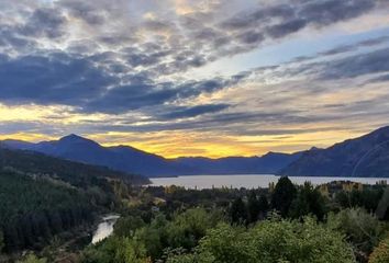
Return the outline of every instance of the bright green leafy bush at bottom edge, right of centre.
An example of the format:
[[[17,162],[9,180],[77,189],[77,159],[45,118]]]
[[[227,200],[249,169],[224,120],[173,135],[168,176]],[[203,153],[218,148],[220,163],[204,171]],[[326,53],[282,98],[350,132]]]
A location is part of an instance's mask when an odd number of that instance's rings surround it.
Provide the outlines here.
[[[197,259],[212,263],[355,262],[343,236],[311,218],[304,222],[265,220],[247,230],[222,224],[209,231],[193,254],[175,255],[168,262],[202,262]]]

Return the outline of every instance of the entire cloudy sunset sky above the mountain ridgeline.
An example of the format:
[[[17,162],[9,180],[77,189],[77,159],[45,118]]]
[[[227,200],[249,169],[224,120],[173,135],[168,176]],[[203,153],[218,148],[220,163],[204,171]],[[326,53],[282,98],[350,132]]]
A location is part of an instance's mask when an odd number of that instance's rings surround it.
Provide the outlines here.
[[[0,0],[0,139],[293,152],[389,122],[389,0]]]

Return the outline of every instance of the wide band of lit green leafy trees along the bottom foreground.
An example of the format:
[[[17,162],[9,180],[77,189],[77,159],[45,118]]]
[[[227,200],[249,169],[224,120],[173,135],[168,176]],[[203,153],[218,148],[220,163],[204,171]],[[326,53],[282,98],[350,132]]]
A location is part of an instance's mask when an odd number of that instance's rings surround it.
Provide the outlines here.
[[[156,215],[120,219],[114,235],[82,251],[81,263],[353,263],[352,244],[331,222],[273,214],[248,226],[232,224],[219,209],[191,208],[170,220]]]

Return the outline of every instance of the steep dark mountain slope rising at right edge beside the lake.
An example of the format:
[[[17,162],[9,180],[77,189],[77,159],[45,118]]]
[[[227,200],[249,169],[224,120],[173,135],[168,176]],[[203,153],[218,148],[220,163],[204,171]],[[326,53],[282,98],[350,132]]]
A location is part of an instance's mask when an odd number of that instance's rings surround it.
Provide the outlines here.
[[[389,126],[326,149],[314,149],[279,172],[301,176],[389,176]]]

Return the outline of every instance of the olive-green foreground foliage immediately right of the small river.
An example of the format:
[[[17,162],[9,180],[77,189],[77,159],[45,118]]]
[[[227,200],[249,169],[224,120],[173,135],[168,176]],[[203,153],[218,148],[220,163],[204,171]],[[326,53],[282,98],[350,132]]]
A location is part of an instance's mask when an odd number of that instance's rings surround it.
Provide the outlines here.
[[[192,208],[175,215],[170,221],[165,216],[157,215],[149,225],[140,228],[127,226],[133,220],[137,221],[135,218],[123,220],[122,226],[115,228],[113,237],[86,250],[81,262],[156,261],[166,255],[167,248],[174,251],[190,251],[198,245],[199,240],[209,229],[222,220],[222,217],[215,211],[208,213],[202,208]],[[125,237],[127,233],[130,236]]]

